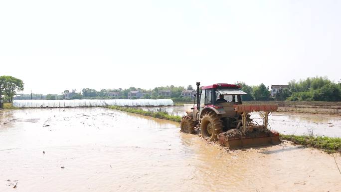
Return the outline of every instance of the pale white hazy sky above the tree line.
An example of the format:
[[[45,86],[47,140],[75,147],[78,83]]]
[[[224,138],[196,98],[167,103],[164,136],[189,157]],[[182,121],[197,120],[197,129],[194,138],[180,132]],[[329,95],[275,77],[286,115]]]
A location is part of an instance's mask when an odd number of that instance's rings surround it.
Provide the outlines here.
[[[25,93],[340,73],[340,0],[0,0],[0,75]]]

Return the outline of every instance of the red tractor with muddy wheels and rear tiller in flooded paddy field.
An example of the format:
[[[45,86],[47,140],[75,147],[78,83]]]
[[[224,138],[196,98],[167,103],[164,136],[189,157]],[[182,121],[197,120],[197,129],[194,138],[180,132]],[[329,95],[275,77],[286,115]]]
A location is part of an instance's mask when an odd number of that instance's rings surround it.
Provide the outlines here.
[[[197,93],[193,107],[182,118],[180,128],[185,133],[195,133],[200,128],[201,136],[209,141],[219,139],[229,148],[262,144],[277,144],[279,134],[268,129],[268,115],[277,110],[277,105],[242,105],[239,85],[219,83],[202,86],[196,83]],[[250,119],[248,113],[264,111],[264,125]]]

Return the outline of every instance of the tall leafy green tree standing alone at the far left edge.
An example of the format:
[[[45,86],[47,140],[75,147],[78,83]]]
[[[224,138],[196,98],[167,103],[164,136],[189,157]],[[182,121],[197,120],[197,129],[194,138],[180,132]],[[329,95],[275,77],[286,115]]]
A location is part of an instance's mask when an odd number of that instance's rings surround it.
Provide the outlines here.
[[[16,91],[23,90],[24,83],[21,79],[12,76],[1,76],[0,79],[0,92],[3,92],[3,94],[8,99],[8,102],[11,103],[13,100],[13,96],[16,94]]]

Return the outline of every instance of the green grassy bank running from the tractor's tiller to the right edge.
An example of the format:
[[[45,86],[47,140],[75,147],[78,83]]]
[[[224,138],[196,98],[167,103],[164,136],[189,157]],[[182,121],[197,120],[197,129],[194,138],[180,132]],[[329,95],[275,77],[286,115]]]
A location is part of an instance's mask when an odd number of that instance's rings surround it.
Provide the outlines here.
[[[297,136],[297,135],[280,135],[283,140],[288,140],[294,144],[305,147],[312,147],[325,150],[327,153],[341,152],[341,138],[333,137],[313,137],[313,136]]]

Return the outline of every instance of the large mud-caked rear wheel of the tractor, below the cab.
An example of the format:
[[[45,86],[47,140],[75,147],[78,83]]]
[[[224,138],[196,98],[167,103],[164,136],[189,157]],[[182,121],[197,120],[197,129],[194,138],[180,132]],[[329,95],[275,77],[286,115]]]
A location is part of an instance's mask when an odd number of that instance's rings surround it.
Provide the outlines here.
[[[222,132],[222,120],[214,112],[207,112],[201,119],[201,136],[209,141],[216,141],[219,133]]]

